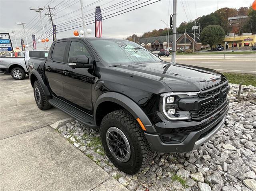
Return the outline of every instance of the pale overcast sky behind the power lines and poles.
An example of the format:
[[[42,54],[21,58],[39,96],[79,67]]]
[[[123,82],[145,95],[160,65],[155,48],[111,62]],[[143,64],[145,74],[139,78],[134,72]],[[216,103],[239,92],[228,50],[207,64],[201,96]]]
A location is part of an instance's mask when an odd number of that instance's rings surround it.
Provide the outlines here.
[[[156,0],[151,0],[149,2],[146,1],[148,0],[83,0],[83,6],[87,6],[84,8],[84,15],[92,14],[96,6],[101,7],[102,17],[104,17],[126,8],[132,7],[131,9],[133,9],[151,2],[155,2]],[[117,4],[118,2],[123,4],[108,10],[104,10],[104,8]],[[161,20],[168,22],[168,12],[171,14],[173,11],[172,2],[172,0],[162,0],[143,8],[104,20],[102,23],[102,35],[103,37],[124,39],[133,33],[142,35],[144,32],[152,31],[153,29],[164,28],[166,25],[161,22]],[[182,2],[188,18],[184,13]],[[252,2],[253,0],[178,0],[177,26],[179,26],[183,21],[194,20],[199,16],[214,12],[217,10],[217,8],[240,8],[241,6],[248,7],[250,4],[252,4]],[[135,6],[140,3],[143,4]],[[25,43],[26,39],[22,26],[16,25],[15,22],[26,22],[25,29],[28,43],[29,45],[32,45],[32,33],[35,34],[36,39],[38,39],[43,32],[38,13],[30,10],[30,7],[43,7],[44,5],[48,6],[48,4],[50,7],[56,7],[56,10],[52,10],[52,14],[57,14],[57,16],[53,17],[54,24],[57,25],[57,39],[63,37],[74,37],[74,30],[79,31],[83,29],[82,27],[78,27],[65,32],[58,32],[58,30],[61,28],[65,30],[64,28],[68,28],[76,24],[82,24],[82,20],[71,21],[70,23],[65,24],[65,22],[81,17],[81,10],[71,13],[80,8],[80,0],[0,0],[0,32],[5,33],[11,30],[16,31],[17,43],[18,46],[20,46],[20,39],[24,39]],[[88,6],[89,4],[92,5]],[[48,16],[44,15],[45,13],[48,13],[48,10],[44,10],[42,12],[46,36],[48,36],[51,33],[52,26],[48,20]],[[36,19],[32,20],[32,18],[35,16]],[[87,16],[86,18],[86,22],[90,23],[90,21],[94,19],[94,14]],[[94,37],[94,24],[86,26],[86,29],[88,28],[92,30],[92,33],[89,36]],[[12,41],[14,41],[12,33],[10,33],[10,35]],[[40,37],[40,39],[43,39],[43,37]],[[49,40],[48,47],[50,47],[52,42],[52,35],[50,35]],[[13,47],[16,47],[15,42]],[[43,43],[38,43],[37,47],[42,48],[44,45]]]

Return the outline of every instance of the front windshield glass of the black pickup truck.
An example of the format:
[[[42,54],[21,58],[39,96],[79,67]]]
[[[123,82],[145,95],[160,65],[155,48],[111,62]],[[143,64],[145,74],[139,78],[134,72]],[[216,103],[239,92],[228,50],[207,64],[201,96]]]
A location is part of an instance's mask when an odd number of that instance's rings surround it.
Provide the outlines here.
[[[93,39],[90,40],[90,43],[102,60],[110,65],[162,61],[142,46],[131,41]]]

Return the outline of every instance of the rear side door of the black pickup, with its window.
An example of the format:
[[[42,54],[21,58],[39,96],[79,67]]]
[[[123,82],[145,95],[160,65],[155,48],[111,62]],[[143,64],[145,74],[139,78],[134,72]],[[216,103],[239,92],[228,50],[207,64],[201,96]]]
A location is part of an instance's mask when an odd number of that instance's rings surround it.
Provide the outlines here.
[[[65,68],[68,39],[54,43],[50,57],[44,65],[50,89],[54,95],[63,97],[62,71]]]

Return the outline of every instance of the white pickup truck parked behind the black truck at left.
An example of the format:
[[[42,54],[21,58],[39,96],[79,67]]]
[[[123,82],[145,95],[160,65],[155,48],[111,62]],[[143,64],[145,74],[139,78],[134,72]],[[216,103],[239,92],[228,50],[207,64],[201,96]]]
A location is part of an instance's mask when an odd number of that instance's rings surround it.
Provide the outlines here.
[[[13,79],[23,80],[28,75],[28,60],[30,57],[46,58],[47,50],[28,50],[22,51],[22,57],[0,58],[0,71],[11,73]]]

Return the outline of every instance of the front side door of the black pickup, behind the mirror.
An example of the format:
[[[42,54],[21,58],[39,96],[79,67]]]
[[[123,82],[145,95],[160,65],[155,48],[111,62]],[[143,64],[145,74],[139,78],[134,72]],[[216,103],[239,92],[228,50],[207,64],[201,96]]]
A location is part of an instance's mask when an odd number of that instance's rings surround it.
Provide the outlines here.
[[[93,63],[92,54],[84,41],[70,40],[68,59],[72,56],[86,55],[89,63]],[[62,71],[64,98],[92,114],[92,69],[74,68],[65,65]]]

